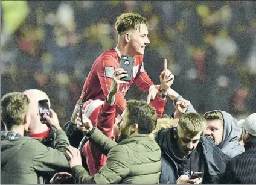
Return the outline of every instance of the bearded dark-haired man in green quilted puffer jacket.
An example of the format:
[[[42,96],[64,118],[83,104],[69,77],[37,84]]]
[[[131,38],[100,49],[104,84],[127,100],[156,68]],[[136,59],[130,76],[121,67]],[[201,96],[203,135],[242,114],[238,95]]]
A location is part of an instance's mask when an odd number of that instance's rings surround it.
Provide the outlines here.
[[[158,184],[161,174],[161,151],[149,134],[155,128],[157,114],[144,101],[129,100],[118,123],[118,143],[109,139],[83,116],[78,127],[90,142],[107,155],[106,164],[90,176],[82,167],[80,151],[68,148],[71,174],[77,184]]]

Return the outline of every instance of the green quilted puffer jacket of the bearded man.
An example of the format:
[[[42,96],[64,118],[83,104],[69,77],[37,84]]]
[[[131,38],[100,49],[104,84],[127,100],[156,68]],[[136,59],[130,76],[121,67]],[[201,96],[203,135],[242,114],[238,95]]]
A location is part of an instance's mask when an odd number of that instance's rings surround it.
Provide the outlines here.
[[[107,161],[93,177],[82,166],[74,166],[71,173],[77,184],[159,183],[161,150],[149,135],[139,134],[117,144],[95,128],[89,140],[107,155]]]

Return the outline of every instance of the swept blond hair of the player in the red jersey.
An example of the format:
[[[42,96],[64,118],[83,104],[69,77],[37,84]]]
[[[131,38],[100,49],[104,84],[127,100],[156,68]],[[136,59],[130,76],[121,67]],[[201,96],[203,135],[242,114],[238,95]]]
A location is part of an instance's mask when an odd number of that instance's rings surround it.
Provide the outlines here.
[[[138,29],[141,24],[149,26],[147,19],[138,13],[123,13],[117,17],[115,22],[115,29],[118,34],[123,34],[125,31]]]

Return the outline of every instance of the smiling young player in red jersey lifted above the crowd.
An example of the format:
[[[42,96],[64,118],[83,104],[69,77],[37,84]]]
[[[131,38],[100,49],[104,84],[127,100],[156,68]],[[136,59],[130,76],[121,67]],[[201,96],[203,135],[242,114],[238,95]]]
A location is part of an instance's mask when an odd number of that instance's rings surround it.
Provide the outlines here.
[[[118,32],[117,47],[104,51],[92,64],[92,69],[83,86],[82,93],[85,92],[83,101],[106,98],[111,86],[111,77],[115,69],[120,66],[121,55],[133,57],[134,64],[132,80],[127,84],[120,84],[117,92],[117,113],[120,115],[123,113],[126,105],[124,96],[133,82],[139,89],[150,92],[150,99],[155,98],[157,90],[143,66],[144,50],[150,43],[148,25],[147,20],[136,13],[121,14],[117,17],[115,22]]]

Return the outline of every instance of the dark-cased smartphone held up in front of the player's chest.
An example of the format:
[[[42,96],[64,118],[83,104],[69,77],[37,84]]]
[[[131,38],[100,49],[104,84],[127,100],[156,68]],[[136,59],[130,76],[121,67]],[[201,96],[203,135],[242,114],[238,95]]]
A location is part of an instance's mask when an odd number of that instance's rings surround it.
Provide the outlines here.
[[[120,61],[120,68],[123,68],[125,71],[127,71],[128,77],[120,78],[120,80],[123,81],[130,81],[132,80],[132,69],[133,69],[133,57],[130,56],[121,56]]]

